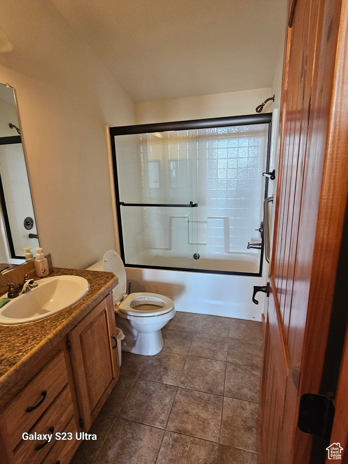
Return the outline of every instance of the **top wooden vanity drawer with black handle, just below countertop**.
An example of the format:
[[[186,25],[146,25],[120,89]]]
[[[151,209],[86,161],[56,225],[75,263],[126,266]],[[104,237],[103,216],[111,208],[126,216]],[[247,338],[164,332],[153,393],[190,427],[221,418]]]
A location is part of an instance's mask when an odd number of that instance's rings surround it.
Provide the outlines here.
[[[58,351],[3,411],[12,449],[22,439],[22,433],[32,428],[67,383],[64,352]],[[27,412],[30,406],[37,407]]]

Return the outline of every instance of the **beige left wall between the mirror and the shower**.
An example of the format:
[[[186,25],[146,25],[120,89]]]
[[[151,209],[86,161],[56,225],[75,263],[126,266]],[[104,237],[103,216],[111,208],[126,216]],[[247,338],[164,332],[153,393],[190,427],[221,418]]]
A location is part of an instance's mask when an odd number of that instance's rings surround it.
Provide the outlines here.
[[[133,102],[51,2],[4,0],[0,17],[40,245],[54,265],[86,268],[115,247],[104,126],[134,123]]]

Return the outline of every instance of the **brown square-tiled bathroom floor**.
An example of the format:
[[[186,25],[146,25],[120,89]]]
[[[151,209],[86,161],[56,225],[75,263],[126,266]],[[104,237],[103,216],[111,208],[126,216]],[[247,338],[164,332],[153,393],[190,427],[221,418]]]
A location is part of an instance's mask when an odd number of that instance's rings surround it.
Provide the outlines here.
[[[72,464],[256,464],[260,322],[178,312],[121,376]]]

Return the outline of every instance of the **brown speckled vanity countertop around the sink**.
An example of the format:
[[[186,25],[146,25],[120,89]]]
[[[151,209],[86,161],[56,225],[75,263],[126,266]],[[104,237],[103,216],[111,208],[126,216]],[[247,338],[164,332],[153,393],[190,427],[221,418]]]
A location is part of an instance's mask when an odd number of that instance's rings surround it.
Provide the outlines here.
[[[0,325],[0,396],[48,352],[118,284],[112,272],[53,268],[47,277],[73,275],[90,284],[76,304],[53,316],[21,325]]]

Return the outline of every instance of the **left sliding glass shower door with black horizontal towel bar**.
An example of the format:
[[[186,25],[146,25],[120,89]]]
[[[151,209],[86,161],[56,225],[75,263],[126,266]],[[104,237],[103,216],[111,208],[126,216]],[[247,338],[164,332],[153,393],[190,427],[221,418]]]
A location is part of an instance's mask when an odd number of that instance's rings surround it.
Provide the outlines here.
[[[117,135],[115,148],[124,263],[196,269],[195,151],[178,133]]]

